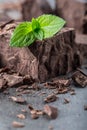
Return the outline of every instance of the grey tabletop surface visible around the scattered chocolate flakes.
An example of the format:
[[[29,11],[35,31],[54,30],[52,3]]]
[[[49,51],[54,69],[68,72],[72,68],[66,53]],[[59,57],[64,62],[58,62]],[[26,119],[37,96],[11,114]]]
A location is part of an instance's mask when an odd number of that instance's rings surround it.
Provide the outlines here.
[[[87,70],[84,69],[87,74]],[[84,110],[84,105],[87,105],[87,87],[75,88],[76,95],[62,94],[58,95],[59,100],[50,103],[59,110],[59,115],[55,120],[49,120],[46,117],[40,117],[37,120],[32,120],[30,114],[26,114],[26,119],[18,119],[17,114],[21,113],[22,109],[27,109],[27,105],[20,105],[11,101],[7,95],[0,94],[0,130],[15,130],[13,121],[20,121],[25,124],[24,128],[17,130],[49,130],[49,126],[53,126],[53,130],[87,130],[87,111]],[[40,95],[41,91],[45,91],[45,95]],[[33,94],[27,94],[24,98],[28,104],[33,105],[36,109],[43,108],[43,99],[48,93],[53,90],[34,91]],[[9,90],[9,95],[16,95],[15,89]],[[64,98],[70,99],[69,104],[63,104]]]

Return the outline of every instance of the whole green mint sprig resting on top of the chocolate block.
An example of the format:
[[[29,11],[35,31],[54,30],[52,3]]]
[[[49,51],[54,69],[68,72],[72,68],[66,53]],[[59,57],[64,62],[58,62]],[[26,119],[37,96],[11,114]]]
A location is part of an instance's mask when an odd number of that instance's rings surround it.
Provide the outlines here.
[[[13,32],[10,46],[25,47],[35,40],[50,38],[58,33],[65,25],[65,21],[55,15],[42,15],[31,22],[22,22]]]

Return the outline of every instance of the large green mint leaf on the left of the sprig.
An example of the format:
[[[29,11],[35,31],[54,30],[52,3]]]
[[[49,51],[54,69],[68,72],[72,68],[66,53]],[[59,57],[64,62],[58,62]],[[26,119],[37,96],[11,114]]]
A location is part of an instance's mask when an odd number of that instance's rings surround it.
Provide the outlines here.
[[[10,46],[23,47],[28,46],[35,41],[30,22],[23,22],[16,27],[10,40]]]

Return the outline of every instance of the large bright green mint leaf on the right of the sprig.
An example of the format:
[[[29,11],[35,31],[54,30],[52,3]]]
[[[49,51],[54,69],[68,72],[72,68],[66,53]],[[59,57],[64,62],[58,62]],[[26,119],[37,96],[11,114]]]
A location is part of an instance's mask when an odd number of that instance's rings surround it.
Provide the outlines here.
[[[44,31],[44,39],[52,37],[65,25],[65,21],[55,15],[42,15],[37,18],[37,21]]]

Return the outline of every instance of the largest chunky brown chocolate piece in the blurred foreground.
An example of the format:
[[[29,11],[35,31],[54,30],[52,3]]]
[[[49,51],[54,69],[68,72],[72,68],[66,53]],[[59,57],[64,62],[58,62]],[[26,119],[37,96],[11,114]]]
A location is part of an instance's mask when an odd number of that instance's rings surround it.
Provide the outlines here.
[[[58,116],[58,109],[53,106],[45,105],[43,111],[51,119],[56,119]]]

